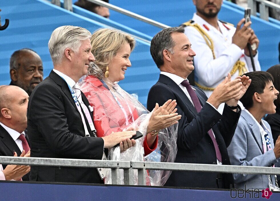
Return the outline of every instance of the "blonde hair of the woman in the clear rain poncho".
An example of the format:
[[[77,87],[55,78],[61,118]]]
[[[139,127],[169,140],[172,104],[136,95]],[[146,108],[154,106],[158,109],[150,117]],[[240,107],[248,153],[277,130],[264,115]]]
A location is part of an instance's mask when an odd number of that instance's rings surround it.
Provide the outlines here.
[[[91,36],[91,53],[95,57],[95,64],[104,73],[106,67],[116,56],[117,52],[125,45],[129,44],[131,52],[135,47],[135,39],[119,30],[101,28],[97,29]],[[91,68],[88,69],[90,75],[96,75]],[[101,78],[98,76],[99,79]]]

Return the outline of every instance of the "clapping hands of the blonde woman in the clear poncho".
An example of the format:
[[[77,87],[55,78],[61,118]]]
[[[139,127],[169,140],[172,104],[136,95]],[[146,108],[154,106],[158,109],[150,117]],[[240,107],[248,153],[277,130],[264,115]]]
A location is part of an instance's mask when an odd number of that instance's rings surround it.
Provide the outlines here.
[[[177,108],[175,108],[175,106],[175,100],[167,100],[167,102],[165,102],[165,104],[160,107],[159,104],[156,103],[149,120],[147,133],[153,130],[161,130],[163,128],[167,128],[169,126],[177,124],[178,120],[181,119],[181,115],[175,113],[177,111]]]

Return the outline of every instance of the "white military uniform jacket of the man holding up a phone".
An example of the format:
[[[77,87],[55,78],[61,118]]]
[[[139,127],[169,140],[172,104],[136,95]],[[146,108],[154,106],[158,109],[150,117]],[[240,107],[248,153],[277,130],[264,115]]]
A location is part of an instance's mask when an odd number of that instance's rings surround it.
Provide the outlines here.
[[[191,26],[185,27],[185,34],[189,38],[195,51],[194,57],[195,67],[195,81],[202,86],[215,88],[221,83],[228,73],[233,69],[233,65],[240,59],[245,63],[247,72],[253,71],[250,57],[244,54],[244,50],[241,50],[237,45],[232,44],[232,37],[235,33],[235,27],[223,24],[218,21],[218,31],[215,27],[207,23],[204,19],[196,15],[193,15],[193,24],[197,23],[201,28],[209,35],[213,40],[214,52],[216,59],[213,59],[213,54],[209,46],[206,44],[202,35]],[[256,71],[260,71],[261,67],[258,61],[258,53],[254,57],[254,63]],[[235,79],[239,75],[237,70],[232,79]],[[212,91],[203,90],[207,97],[212,94]]]

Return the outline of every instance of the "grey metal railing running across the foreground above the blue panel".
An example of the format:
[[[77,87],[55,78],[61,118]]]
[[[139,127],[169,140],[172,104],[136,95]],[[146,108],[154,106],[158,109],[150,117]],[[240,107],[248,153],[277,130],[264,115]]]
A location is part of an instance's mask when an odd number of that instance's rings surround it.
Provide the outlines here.
[[[124,171],[124,184],[133,185],[133,170],[138,170],[138,185],[146,185],[146,170],[172,170],[196,172],[223,172],[239,174],[280,175],[280,168],[190,164],[190,163],[163,163],[163,162],[135,162],[113,160],[86,160],[64,158],[26,158],[13,156],[0,156],[0,164],[36,165],[36,166],[63,166],[83,168],[111,168],[112,184],[120,184],[119,169]]]

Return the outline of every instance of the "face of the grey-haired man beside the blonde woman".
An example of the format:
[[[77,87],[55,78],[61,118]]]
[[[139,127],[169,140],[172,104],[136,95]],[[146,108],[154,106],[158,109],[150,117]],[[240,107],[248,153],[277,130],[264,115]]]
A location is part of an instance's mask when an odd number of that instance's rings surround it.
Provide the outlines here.
[[[83,75],[87,74],[89,63],[95,61],[93,54],[91,53],[90,39],[81,41],[81,46],[78,53],[73,53],[72,61],[74,63],[73,75],[79,80]]]

